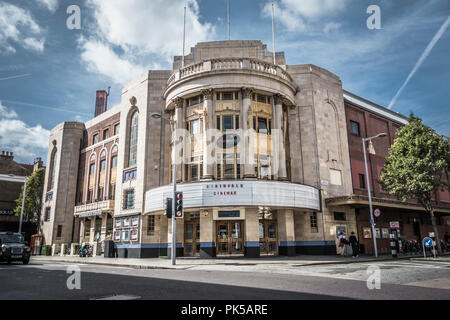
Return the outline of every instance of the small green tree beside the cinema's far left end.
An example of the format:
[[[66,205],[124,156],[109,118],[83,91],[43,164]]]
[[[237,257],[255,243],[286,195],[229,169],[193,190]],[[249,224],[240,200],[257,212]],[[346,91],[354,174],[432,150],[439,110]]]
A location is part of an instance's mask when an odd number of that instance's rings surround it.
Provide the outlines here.
[[[27,181],[27,192],[25,195],[25,207],[23,210],[23,217],[25,220],[38,224],[41,216],[42,208],[42,193],[44,190],[45,169],[40,168],[33,172]],[[16,200],[16,208],[14,213],[20,215],[22,209],[22,192]]]

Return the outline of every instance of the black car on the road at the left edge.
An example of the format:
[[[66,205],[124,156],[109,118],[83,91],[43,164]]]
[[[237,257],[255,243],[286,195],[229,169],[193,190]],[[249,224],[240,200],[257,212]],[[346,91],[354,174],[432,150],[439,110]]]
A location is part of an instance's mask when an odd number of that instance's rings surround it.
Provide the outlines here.
[[[20,233],[0,232],[0,262],[22,261],[23,264],[30,262],[31,250],[23,240]]]

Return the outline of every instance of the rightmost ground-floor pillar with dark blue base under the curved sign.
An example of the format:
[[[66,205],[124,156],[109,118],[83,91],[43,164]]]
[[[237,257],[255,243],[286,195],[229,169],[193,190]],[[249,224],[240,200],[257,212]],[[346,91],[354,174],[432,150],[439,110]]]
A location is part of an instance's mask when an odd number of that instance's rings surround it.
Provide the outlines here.
[[[280,255],[295,256],[295,225],[294,211],[292,209],[278,210],[278,241]]]

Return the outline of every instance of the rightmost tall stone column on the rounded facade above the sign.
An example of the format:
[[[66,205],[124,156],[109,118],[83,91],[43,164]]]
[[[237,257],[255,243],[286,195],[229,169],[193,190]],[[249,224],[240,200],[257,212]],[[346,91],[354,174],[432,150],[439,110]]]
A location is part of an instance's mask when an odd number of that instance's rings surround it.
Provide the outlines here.
[[[275,154],[277,158],[274,158],[274,161],[277,161],[276,167],[278,168],[278,179],[286,180],[286,148],[284,146],[284,134],[283,134],[283,100],[281,95],[275,95],[274,99],[274,135],[272,139],[274,140]]]

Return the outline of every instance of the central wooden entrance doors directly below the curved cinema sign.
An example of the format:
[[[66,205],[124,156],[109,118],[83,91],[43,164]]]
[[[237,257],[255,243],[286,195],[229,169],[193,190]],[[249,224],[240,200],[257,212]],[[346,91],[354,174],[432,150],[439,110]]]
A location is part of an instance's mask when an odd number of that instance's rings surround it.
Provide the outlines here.
[[[217,222],[217,254],[243,254],[244,235],[242,221]]]

